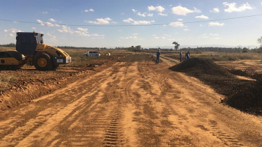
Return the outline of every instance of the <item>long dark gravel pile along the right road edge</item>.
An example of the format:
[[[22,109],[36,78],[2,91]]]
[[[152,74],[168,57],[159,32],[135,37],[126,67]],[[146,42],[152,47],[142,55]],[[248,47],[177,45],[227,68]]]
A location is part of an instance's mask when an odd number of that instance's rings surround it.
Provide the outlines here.
[[[222,102],[250,114],[262,115],[262,82],[236,78],[210,59],[192,58],[170,68],[200,79],[226,98]]]

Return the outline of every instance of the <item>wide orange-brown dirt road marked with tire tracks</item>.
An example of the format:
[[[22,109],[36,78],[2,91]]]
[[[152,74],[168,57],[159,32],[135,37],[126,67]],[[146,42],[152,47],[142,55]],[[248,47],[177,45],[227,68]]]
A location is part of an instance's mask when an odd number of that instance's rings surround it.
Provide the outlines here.
[[[1,115],[0,146],[262,146],[262,118],[169,70],[118,62]]]

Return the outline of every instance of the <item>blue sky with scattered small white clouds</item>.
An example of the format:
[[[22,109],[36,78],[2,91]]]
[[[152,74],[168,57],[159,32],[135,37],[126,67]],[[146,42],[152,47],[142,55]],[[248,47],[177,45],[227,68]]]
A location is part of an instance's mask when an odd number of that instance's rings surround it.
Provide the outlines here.
[[[17,31],[44,33],[46,44],[75,47],[173,46],[174,41],[182,46],[244,47],[259,46],[256,40],[262,36],[262,0],[0,0],[0,3],[0,44],[15,42]],[[259,16],[245,17],[252,15]],[[220,20],[233,17],[244,18]]]

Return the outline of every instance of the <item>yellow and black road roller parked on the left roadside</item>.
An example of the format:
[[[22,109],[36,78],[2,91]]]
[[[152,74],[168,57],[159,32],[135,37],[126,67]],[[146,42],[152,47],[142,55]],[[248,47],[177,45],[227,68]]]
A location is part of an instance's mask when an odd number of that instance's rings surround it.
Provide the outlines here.
[[[56,70],[60,64],[71,63],[71,57],[62,49],[43,43],[43,34],[17,32],[16,51],[0,52],[0,68],[17,70],[24,64],[37,70]]]

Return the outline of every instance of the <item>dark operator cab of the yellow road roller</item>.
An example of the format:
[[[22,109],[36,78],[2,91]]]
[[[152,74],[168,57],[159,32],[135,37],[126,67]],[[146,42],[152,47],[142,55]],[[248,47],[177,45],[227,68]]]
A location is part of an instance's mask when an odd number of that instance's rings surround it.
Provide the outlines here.
[[[36,45],[43,43],[43,34],[17,32],[16,40],[17,52],[25,55],[34,55],[36,54]]]

